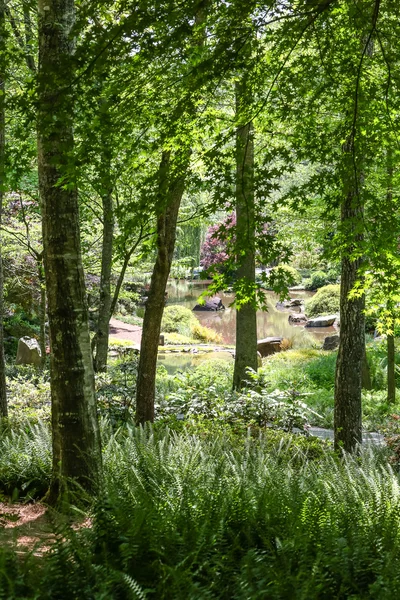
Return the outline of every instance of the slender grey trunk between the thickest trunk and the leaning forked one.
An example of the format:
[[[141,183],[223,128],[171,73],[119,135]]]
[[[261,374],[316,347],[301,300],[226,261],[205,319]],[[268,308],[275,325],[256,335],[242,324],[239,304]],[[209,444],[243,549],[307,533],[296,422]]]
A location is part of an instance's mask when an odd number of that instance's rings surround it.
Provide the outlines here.
[[[107,369],[111,312],[111,267],[114,235],[114,205],[111,187],[103,196],[103,246],[101,253],[100,303],[96,330],[95,371]]]

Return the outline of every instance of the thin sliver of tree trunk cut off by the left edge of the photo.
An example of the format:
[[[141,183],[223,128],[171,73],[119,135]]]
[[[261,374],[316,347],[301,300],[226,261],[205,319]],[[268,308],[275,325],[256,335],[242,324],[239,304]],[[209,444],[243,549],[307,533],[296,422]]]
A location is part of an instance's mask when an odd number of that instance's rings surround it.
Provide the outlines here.
[[[3,198],[5,189],[5,79],[6,79],[6,27],[5,5],[0,0],[0,227],[3,215]],[[3,260],[1,254],[2,240],[0,239],[0,417],[7,417],[6,363],[4,356],[4,291],[3,291]]]

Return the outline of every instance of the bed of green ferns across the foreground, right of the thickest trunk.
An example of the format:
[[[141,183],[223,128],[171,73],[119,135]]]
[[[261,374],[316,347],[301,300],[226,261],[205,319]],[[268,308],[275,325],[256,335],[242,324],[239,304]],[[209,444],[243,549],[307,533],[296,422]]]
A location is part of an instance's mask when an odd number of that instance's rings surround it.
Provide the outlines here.
[[[398,482],[384,459],[338,460],[319,440],[274,431],[236,444],[108,432],[90,524],[60,525],[40,569],[2,547],[0,596],[396,597]]]

